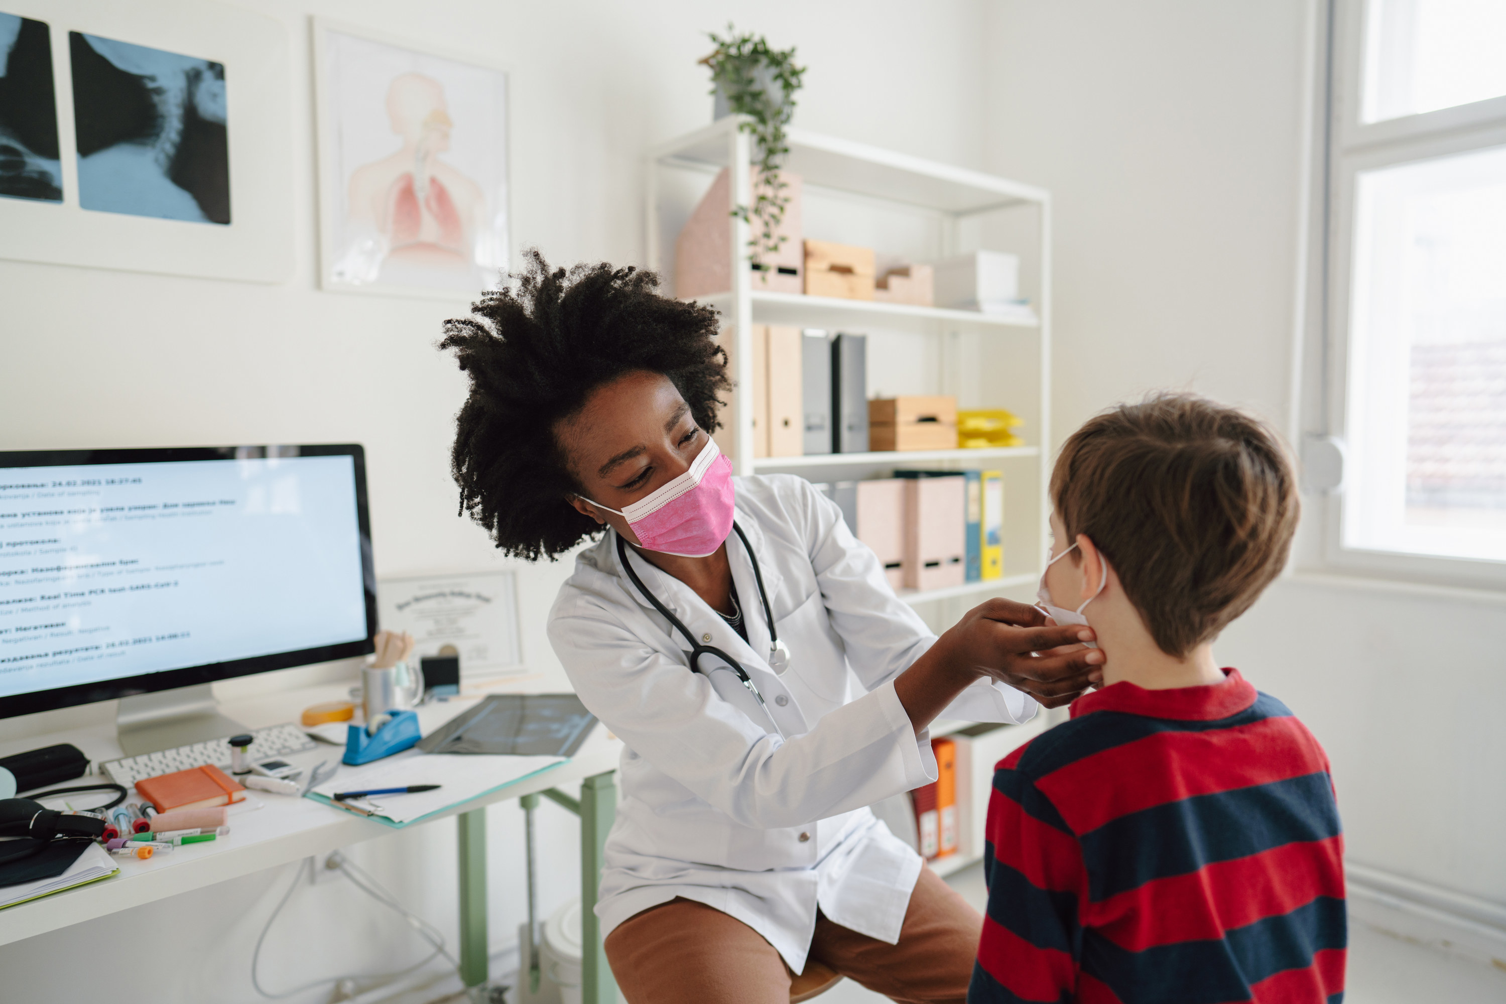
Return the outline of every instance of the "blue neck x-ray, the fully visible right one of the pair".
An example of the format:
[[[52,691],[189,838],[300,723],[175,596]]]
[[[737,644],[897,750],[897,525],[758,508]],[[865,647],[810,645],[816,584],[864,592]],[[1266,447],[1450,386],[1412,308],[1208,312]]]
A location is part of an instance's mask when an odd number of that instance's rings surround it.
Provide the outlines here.
[[[78,32],[68,48],[80,205],[229,223],[224,65]]]

